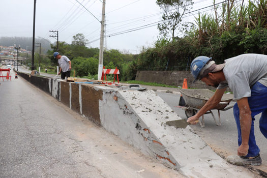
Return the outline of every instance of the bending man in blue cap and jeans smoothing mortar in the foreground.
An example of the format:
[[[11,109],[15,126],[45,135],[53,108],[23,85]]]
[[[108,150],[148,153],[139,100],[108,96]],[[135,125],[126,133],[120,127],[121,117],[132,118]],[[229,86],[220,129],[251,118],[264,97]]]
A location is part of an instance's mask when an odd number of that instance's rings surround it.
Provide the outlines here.
[[[191,74],[207,85],[217,87],[212,98],[187,122],[196,124],[204,113],[214,108],[227,88],[232,90],[236,103],[233,114],[238,128],[238,155],[227,157],[235,165],[261,165],[259,147],[254,136],[254,116],[259,120],[261,133],[267,138],[267,55],[242,54],[216,65],[212,58],[198,56],[191,63]]]

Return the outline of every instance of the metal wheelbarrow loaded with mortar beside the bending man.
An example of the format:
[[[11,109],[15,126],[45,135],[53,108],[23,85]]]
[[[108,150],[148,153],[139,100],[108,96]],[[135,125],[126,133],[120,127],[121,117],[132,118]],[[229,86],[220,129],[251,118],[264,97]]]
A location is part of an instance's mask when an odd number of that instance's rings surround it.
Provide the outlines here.
[[[195,115],[197,111],[204,106],[207,100],[209,100],[214,95],[214,92],[208,89],[180,89],[180,92],[183,95],[183,98],[186,103],[185,106],[182,107],[182,109],[185,110],[187,118]],[[229,105],[231,101],[232,101],[231,97],[223,95],[220,103],[216,105],[214,108],[212,108],[218,110],[218,117],[219,117],[218,121],[216,120],[212,110],[206,112],[205,114],[211,113],[216,125],[221,126],[220,111],[226,111],[232,108],[233,105],[226,107],[227,105]],[[202,115],[202,121],[199,121],[199,124],[201,127],[205,127],[204,115]]]

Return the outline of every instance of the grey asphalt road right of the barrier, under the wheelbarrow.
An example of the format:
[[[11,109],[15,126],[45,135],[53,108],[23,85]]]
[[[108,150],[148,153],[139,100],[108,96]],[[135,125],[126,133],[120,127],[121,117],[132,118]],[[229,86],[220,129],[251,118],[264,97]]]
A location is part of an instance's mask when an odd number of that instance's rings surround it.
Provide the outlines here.
[[[157,94],[181,117],[187,119],[185,111],[178,106],[180,95],[170,93]],[[233,105],[235,102],[230,102]],[[217,110],[213,110],[216,118],[218,118]],[[211,114],[204,115],[205,127],[200,127],[199,124],[189,126],[196,131],[196,133],[209,144],[219,155],[228,156],[237,154],[238,149],[238,131],[236,129],[233,109],[220,111],[221,126],[217,126]],[[256,115],[254,121],[255,137],[257,145],[260,148],[260,157],[263,161],[262,166],[254,166],[267,172],[267,139],[261,134],[259,130],[260,114]]]

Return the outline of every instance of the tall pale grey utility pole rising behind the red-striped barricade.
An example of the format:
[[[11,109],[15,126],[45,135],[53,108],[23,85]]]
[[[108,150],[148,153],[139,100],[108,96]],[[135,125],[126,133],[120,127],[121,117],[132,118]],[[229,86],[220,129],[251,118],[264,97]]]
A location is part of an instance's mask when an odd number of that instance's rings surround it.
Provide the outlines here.
[[[106,0],[103,0],[102,19],[101,19],[101,33],[100,33],[100,48],[99,48],[99,63],[98,63],[98,80],[101,80],[103,72],[103,53],[104,53],[104,32],[105,32],[105,6]]]

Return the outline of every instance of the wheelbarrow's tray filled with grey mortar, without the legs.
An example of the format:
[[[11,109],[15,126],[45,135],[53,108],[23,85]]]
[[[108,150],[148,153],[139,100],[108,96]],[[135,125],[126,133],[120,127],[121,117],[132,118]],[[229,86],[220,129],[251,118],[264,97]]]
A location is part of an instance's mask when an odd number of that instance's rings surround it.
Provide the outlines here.
[[[185,100],[186,105],[200,109],[209,100],[214,92],[208,89],[180,89],[181,94]],[[232,100],[231,97],[223,95],[221,102],[213,109],[224,109],[229,102]]]

